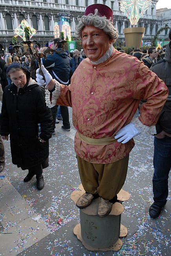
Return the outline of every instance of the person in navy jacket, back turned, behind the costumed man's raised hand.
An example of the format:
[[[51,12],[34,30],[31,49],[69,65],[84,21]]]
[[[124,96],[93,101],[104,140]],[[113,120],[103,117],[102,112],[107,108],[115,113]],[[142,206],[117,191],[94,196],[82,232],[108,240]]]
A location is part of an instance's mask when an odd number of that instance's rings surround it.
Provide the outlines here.
[[[51,48],[53,50],[60,51],[62,48],[62,44],[60,43],[62,39],[60,37],[55,38],[51,44]],[[53,79],[57,80],[59,83],[64,85],[68,85],[69,76],[70,76],[70,59],[68,58],[68,54],[63,51],[60,53],[54,53],[53,55],[48,54],[46,59],[42,58],[42,64],[47,70],[50,72]],[[52,134],[55,135],[55,122],[56,122],[56,113],[57,113],[58,105],[51,108],[52,116],[53,116],[53,131]],[[69,111],[68,107],[61,106],[61,115],[63,117],[63,126],[62,129],[67,132],[70,131],[70,121],[69,121]]]

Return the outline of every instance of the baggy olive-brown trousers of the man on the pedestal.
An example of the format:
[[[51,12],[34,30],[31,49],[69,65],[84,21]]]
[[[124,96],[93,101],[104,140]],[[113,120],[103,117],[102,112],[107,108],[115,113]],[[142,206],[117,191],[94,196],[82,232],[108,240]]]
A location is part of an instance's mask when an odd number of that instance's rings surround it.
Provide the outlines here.
[[[87,193],[111,200],[123,187],[127,176],[129,155],[114,163],[90,163],[77,156],[79,175]]]

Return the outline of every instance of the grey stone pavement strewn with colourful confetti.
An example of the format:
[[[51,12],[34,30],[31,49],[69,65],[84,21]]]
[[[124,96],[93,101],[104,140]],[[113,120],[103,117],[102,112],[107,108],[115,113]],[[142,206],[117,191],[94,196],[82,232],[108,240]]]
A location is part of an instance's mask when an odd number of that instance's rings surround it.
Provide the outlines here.
[[[0,256],[101,256],[171,255],[171,190],[158,219],[148,215],[153,202],[153,136],[139,135],[130,154],[127,180],[123,189],[131,195],[123,202],[121,224],[128,235],[121,238],[118,252],[91,252],[74,235],[79,209],[70,199],[80,185],[74,152],[75,129],[61,129],[50,139],[50,166],[44,170],[44,189],[38,191],[36,178],[24,183],[27,171],[11,163],[9,141],[4,141],[6,167],[0,174]],[[169,178],[169,185],[171,180]],[[169,186],[170,187],[170,186]]]

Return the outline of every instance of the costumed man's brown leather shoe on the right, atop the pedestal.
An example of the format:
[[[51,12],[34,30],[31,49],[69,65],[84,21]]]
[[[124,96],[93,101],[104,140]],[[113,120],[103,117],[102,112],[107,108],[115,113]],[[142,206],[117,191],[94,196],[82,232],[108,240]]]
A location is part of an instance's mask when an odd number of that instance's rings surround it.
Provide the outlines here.
[[[113,204],[109,202],[108,199],[100,198],[99,206],[97,208],[97,216],[105,217],[110,211],[112,211]]]

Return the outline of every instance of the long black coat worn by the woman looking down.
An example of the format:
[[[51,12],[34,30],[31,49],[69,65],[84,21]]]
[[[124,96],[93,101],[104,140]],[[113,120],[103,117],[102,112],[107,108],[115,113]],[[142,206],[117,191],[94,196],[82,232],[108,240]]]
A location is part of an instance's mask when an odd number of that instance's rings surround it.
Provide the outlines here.
[[[44,143],[38,139],[38,123]],[[52,133],[51,110],[46,106],[44,89],[30,78],[29,85],[20,88],[14,83],[7,85],[3,93],[0,118],[0,134],[10,134],[13,164],[23,170],[42,163],[49,156]]]

